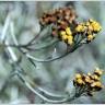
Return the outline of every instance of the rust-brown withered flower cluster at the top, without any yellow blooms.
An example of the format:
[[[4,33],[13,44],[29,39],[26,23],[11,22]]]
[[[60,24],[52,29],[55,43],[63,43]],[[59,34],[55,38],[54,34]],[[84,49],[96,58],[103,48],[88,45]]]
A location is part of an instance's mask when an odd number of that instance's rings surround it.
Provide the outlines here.
[[[50,13],[44,13],[44,15],[39,20],[39,23],[40,25],[45,26],[48,24],[57,24],[61,21],[62,25],[67,26],[69,25],[69,23],[72,23],[75,20],[75,11],[71,7],[60,8],[56,9]]]

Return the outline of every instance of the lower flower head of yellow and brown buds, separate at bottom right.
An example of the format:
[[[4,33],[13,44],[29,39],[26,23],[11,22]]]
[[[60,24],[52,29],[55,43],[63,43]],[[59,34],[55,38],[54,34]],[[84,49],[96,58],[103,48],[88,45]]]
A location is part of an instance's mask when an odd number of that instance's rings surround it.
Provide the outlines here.
[[[73,80],[73,84],[77,88],[83,89],[84,93],[92,96],[93,92],[101,91],[104,86],[101,83],[101,75],[103,74],[103,71],[98,68],[96,68],[91,74],[90,72],[88,74],[75,74],[75,79]]]

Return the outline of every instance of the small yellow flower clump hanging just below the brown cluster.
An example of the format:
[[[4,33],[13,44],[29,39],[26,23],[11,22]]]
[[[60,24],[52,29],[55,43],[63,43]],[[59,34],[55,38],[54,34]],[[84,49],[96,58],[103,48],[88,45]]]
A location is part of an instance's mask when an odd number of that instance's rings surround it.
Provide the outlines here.
[[[60,31],[60,38],[69,45],[73,44],[73,36],[70,27],[67,27],[65,31]]]

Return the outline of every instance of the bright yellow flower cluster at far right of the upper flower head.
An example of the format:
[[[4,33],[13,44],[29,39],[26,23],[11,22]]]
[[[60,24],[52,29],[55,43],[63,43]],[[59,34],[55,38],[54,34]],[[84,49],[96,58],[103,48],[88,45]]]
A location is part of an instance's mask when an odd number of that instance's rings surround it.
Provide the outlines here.
[[[100,23],[96,21],[90,19],[85,23],[80,23],[75,27],[75,33],[85,33],[86,35],[86,40],[91,42],[92,39],[95,38],[95,34],[98,33],[102,30]]]

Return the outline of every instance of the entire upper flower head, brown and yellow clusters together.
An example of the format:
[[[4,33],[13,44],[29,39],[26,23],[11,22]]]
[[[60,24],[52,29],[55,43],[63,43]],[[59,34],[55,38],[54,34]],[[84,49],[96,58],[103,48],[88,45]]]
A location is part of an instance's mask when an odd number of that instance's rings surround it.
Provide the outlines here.
[[[40,25],[51,25],[51,35],[69,46],[77,44],[75,37],[81,36],[85,43],[92,42],[102,30],[98,22],[90,19],[86,22],[78,23],[77,13],[73,8],[60,8],[54,12],[44,13],[40,18]]]

